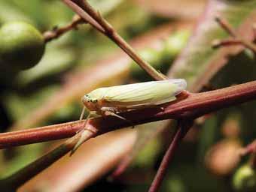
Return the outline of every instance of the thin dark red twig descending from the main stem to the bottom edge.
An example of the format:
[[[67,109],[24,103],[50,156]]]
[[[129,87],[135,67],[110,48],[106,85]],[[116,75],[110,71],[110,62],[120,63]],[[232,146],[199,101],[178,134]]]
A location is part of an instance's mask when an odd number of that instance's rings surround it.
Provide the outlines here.
[[[193,121],[191,121],[190,119],[183,119],[178,122],[178,130],[175,133],[172,142],[170,142],[166,154],[164,154],[163,160],[157,170],[157,175],[155,175],[154,181],[151,183],[151,187],[149,188],[148,192],[157,192],[159,190],[163,178],[166,175],[169,163],[173,159],[178,145],[181,143],[181,140],[184,138],[192,124]]]

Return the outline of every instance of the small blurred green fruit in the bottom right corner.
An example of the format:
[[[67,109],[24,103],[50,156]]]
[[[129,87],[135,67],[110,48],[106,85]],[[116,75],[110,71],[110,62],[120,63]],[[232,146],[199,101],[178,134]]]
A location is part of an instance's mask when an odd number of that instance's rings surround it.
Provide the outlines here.
[[[239,167],[233,175],[233,187],[236,191],[256,191],[256,174],[250,165]]]

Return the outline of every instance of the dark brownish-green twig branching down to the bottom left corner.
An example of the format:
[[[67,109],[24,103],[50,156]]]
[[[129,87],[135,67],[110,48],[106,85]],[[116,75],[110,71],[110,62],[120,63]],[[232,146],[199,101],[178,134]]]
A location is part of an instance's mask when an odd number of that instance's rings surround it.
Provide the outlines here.
[[[66,142],[63,142],[62,145],[59,145],[57,148],[54,148],[52,151],[44,154],[38,160],[35,160],[29,165],[25,166],[23,169],[15,172],[13,175],[8,178],[0,180],[0,188],[2,191],[13,191],[17,190],[22,184],[26,181],[29,181],[32,177],[37,175],[42,170],[46,169],[60,157],[67,154],[72,148],[75,147],[76,143],[81,137],[81,133],[75,134],[71,138],[67,139]],[[96,131],[87,130],[87,139],[92,138],[96,135]],[[84,138],[85,139],[85,138]]]

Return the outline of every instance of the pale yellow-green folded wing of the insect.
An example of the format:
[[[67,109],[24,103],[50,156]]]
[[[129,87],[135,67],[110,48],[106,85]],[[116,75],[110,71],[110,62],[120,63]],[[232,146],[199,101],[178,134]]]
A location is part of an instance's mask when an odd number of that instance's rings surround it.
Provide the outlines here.
[[[116,106],[151,106],[175,100],[186,87],[185,80],[163,80],[114,86],[105,92],[104,100]]]

